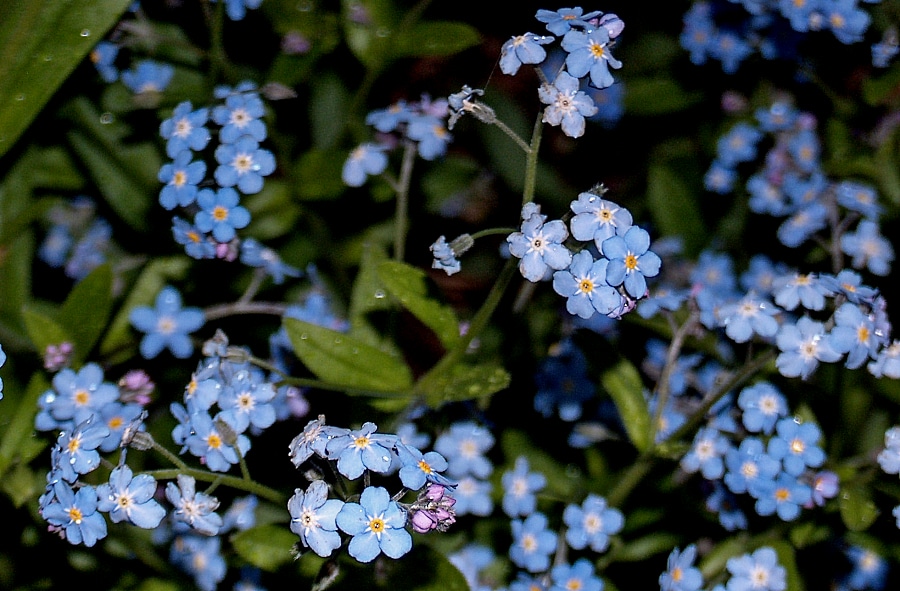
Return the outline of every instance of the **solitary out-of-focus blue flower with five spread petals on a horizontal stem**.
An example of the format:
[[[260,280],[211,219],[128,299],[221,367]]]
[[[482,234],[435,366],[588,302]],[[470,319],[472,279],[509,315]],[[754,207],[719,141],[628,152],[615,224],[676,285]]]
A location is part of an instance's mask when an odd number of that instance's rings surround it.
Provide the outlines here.
[[[154,308],[138,306],[128,318],[137,330],[145,333],[140,344],[144,359],[153,359],[166,348],[178,359],[187,359],[194,352],[188,334],[206,322],[199,308],[181,306],[181,294],[171,286],[156,295]]]

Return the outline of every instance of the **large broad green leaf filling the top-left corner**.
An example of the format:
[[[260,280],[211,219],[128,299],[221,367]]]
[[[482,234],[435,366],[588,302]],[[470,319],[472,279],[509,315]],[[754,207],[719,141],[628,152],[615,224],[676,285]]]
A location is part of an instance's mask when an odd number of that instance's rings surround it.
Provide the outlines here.
[[[130,4],[0,3],[0,157]]]

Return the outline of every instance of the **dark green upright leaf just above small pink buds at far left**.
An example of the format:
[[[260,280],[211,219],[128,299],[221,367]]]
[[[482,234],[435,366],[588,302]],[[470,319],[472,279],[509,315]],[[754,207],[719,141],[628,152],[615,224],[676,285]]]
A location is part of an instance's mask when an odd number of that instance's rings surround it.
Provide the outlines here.
[[[87,356],[109,322],[112,284],[112,267],[100,265],[75,284],[59,310],[58,320],[72,336],[77,359]]]

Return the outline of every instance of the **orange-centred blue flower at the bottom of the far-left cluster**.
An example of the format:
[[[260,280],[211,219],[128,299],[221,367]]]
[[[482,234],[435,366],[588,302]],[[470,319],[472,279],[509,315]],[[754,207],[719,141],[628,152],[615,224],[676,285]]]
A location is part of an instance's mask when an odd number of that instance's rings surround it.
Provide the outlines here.
[[[92,547],[106,537],[106,520],[97,512],[97,489],[83,485],[78,491],[57,480],[52,486],[53,501],[41,509],[41,516],[58,527],[70,544]]]

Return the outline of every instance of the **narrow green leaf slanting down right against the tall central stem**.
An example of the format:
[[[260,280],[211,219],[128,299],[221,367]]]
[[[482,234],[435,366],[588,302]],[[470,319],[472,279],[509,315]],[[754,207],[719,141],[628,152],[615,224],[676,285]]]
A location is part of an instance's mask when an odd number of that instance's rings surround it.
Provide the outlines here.
[[[428,297],[423,270],[399,261],[384,261],[378,265],[378,277],[404,308],[434,331],[444,347],[456,345],[459,320],[449,306]]]

